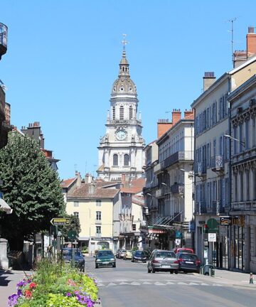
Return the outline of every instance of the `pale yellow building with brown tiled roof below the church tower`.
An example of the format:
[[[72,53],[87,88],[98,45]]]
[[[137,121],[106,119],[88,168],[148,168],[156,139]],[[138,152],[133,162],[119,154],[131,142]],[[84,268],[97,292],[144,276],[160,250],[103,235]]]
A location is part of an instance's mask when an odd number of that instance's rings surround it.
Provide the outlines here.
[[[65,181],[63,189],[66,189],[66,212],[78,216],[80,220],[80,245],[88,246],[90,254],[102,248],[115,250],[119,229],[114,223],[119,222],[117,212],[121,205],[120,183],[85,183],[78,174],[74,181],[70,180],[70,190],[64,186]]]

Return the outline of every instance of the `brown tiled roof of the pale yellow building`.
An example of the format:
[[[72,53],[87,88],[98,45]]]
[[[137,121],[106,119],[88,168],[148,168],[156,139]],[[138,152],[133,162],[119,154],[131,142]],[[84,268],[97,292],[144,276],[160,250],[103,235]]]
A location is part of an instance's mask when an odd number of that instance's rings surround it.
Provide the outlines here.
[[[106,186],[106,183],[110,186]],[[108,182],[93,182],[93,183],[82,183],[79,188],[76,188],[68,194],[68,198],[114,198],[119,193],[119,189],[114,188],[113,183]]]

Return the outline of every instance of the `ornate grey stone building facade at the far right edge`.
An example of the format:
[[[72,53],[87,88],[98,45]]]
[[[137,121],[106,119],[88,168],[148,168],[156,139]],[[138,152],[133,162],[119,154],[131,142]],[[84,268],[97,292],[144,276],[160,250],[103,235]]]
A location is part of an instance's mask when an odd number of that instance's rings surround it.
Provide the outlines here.
[[[230,268],[256,271],[256,75],[228,97],[231,111]]]

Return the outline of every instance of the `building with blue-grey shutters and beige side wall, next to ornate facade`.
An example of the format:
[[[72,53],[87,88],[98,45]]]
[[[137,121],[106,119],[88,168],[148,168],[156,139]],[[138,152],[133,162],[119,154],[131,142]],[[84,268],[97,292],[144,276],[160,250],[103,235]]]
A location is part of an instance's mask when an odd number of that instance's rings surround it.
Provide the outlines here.
[[[229,109],[227,97],[256,72],[256,58],[250,58],[215,80],[213,72],[206,72],[204,92],[191,107],[195,110],[195,215],[196,253],[215,266],[228,269],[230,244],[228,227],[220,226],[217,241],[205,248],[208,241],[203,225],[230,210]],[[207,81],[207,82],[206,82]],[[215,257],[212,257],[212,255]]]

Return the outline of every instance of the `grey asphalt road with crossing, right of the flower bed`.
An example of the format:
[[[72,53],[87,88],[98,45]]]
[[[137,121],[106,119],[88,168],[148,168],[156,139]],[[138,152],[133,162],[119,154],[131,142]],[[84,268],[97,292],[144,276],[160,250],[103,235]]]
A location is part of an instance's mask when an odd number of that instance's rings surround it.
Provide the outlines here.
[[[226,284],[199,274],[149,274],[146,264],[117,259],[117,267],[95,269],[86,257],[86,271],[99,286],[102,307],[250,307],[255,289]]]

